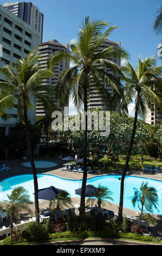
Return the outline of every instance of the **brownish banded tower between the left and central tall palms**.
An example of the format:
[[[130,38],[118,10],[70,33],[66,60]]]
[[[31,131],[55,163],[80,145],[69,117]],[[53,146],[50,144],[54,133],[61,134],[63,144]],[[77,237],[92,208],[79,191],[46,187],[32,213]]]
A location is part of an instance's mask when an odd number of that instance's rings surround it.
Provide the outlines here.
[[[50,54],[58,51],[64,51],[66,53],[69,53],[69,45],[68,44],[60,44],[57,40],[49,40],[47,42],[43,42],[39,46],[40,50],[40,56],[41,56],[41,68],[46,69],[47,68],[47,59]],[[58,63],[57,65],[54,66],[54,71],[55,71],[55,76],[51,78],[46,78],[43,80],[43,85],[53,85],[55,86],[57,81],[59,80],[60,73],[68,69],[70,67],[70,63],[67,60],[64,60],[61,63]],[[56,102],[57,103],[57,102]],[[58,103],[57,106],[59,107]],[[43,105],[37,101],[36,103],[36,115],[44,115],[44,107]]]

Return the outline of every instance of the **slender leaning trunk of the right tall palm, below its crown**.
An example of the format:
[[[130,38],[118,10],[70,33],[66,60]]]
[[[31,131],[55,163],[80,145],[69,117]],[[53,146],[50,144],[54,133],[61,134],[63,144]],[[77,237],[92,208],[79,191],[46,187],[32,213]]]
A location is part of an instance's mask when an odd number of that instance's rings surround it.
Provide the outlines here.
[[[139,108],[139,96],[140,96],[140,91],[137,91],[137,102],[135,105],[135,114],[134,114],[134,123],[133,123],[133,131],[132,131],[132,136],[131,136],[131,141],[129,143],[129,148],[128,148],[128,154],[124,166],[124,170],[122,172],[122,177],[121,177],[121,184],[120,184],[120,202],[119,202],[119,212],[118,212],[118,221],[122,221],[122,207],[123,207],[123,197],[124,197],[124,181],[125,181],[125,176],[126,172],[128,170],[128,163],[129,159],[131,157],[131,151],[133,148],[133,143],[134,143],[134,136],[135,136],[135,131],[137,128],[137,118],[138,118],[138,108]]]

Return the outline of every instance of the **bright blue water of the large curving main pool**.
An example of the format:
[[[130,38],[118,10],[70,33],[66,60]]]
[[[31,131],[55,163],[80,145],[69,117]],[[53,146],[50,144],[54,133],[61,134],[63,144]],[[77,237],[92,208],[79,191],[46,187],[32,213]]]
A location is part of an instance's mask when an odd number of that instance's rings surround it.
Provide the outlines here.
[[[99,184],[107,186],[109,190],[113,192],[113,203],[119,204],[119,196],[120,196],[120,175],[103,175],[95,178],[87,179],[87,185],[92,184],[95,187],[98,187]],[[44,188],[49,186],[54,186],[57,188],[62,188],[63,190],[67,190],[71,197],[79,197],[75,194],[75,190],[80,188],[82,185],[82,180],[67,180],[61,179],[54,175],[47,174],[37,174],[38,179],[38,188]],[[162,181],[153,180],[153,179],[145,179],[134,176],[126,176],[125,179],[125,190],[124,190],[124,207],[137,210],[132,206],[132,197],[134,196],[133,188],[137,188],[139,190],[142,181],[148,182],[148,186],[155,187],[159,197],[159,212],[154,209],[154,214],[162,214]],[[11,178],[5,179],[0,182],[0,201],[7,200],[7,194],[10,194],[15,186],[23,186],[25,187],[29,194],[30,199],[34,201],[34,182],[32,174],[18,175],[13,176]]]

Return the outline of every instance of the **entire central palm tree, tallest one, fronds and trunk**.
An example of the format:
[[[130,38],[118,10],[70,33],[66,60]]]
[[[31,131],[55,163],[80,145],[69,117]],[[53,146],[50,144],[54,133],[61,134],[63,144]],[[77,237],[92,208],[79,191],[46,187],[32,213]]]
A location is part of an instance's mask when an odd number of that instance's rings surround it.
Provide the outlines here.
[[[72,51],[67,54],[65,52],[56,52],[49,58],[49,65],[54,66],[57,62],[68,60],[74,65],[62,72],[59,81],[56,84],[56,97],[59,99],[60,106],[68,103],[69,97],[72,97],[75,106],[79,109],[83,105],[83,111],[87,113],[87,102],[92,89],[95,89],[101,98],[109,106],[112,96],[105,88],[109,84],[118,92],[118,100],[120,99],[120,82],[118,77],[108,74],[103,67],[111,69],[114,75],[119,76],[120,68],[111,62],[113,56],[120,58],[127,56],[126,52],[119,48],[114,49],[112,46],[105,49],[102,48],[105,40],[116,28],[109,27],[105,32],[103,29],[109,24],[105,21],[90,21],[86,16],[85,22],[79,29],[78,41],[72,40],[70,47]],[[85,129],[83,131],[83,180],[80,203],[80,215],[85,212],[85,192],[87,182],[87,115],[85,117]]]

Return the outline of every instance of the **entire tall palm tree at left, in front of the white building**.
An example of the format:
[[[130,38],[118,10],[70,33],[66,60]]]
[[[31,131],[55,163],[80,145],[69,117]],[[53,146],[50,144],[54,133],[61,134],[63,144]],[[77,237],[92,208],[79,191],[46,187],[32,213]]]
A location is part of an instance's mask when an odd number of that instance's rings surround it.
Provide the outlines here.
[[[47,109],[51,109],[53,106],[53,101],[50,96],[52,88],[50,86],[43,86],[41,83],[43,78],[54,76],[53,71],[50,69],[41,69],[38,60],[40,60],[39,52],[38,49],[35,49],[30,52],[25,59],[18,59],[14,67],[9,65],[4,66],[4,68],[1,69],[1,73],[7,77],[8,81],[0,82],[0,116],[3,117],[6,109],[12,109],[12,107],[17,104],[18,117],[24,124],[29,159],[34,177],[35,214],[37,223],[39,221],[38,184],[30,142],[28,109],[35,108],[30,102],[33,98],[42,102]],[[40,92],[46,93],[41,94]]]

